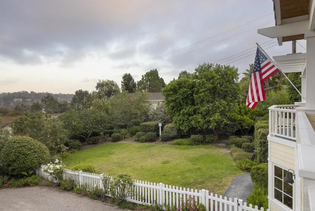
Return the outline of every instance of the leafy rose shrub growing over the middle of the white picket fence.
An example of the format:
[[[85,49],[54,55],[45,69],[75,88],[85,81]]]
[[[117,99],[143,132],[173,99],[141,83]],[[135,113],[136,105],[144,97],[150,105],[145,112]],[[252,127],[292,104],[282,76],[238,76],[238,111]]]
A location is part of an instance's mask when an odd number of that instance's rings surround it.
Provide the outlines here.
[[[124,200],[131,194],[132,180],[127,174],[119,174],[112,177],[110,183],[110,194],[118,200]]]

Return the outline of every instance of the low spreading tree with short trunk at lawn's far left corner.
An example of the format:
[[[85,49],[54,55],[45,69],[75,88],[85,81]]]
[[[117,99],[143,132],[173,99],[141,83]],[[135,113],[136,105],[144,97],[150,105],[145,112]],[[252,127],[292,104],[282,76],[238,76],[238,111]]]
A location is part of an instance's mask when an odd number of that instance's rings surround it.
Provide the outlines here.
[[[59,118],[71,135],[78,135],[87,143],[93,133],[100,133],[108,124],[107,114],[95,109],[69,110]]]

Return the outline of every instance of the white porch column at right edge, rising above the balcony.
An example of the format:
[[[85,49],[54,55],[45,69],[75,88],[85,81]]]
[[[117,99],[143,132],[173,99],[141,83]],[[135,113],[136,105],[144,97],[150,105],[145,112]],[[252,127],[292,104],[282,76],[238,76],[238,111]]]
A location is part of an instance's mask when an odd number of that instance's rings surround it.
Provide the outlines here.
[[[306,38],[306,107],[315,108],[315,32],[305,33]]]

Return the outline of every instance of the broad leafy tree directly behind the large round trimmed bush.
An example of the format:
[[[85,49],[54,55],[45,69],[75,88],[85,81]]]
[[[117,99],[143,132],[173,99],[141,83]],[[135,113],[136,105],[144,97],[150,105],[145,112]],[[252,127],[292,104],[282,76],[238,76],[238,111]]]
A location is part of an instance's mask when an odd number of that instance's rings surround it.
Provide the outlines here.
[[[14,135],[29,136],[45,144],[50,151],[60,152],[65,149],[69,132],[63,128],[63,123],[44,115],[42,112],[26,112],[12,123]]]

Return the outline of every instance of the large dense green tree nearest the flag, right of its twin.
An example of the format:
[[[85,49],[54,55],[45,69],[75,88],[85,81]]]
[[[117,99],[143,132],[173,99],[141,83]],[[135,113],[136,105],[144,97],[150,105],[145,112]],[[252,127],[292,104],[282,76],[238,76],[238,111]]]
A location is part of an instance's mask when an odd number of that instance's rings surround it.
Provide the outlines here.
[[[238,70],[230,66],[202,64],[195,69],[194,100],[196,114],[194,127],[213,130],[217,139],[230,123],[230,114],[238,101]]]

